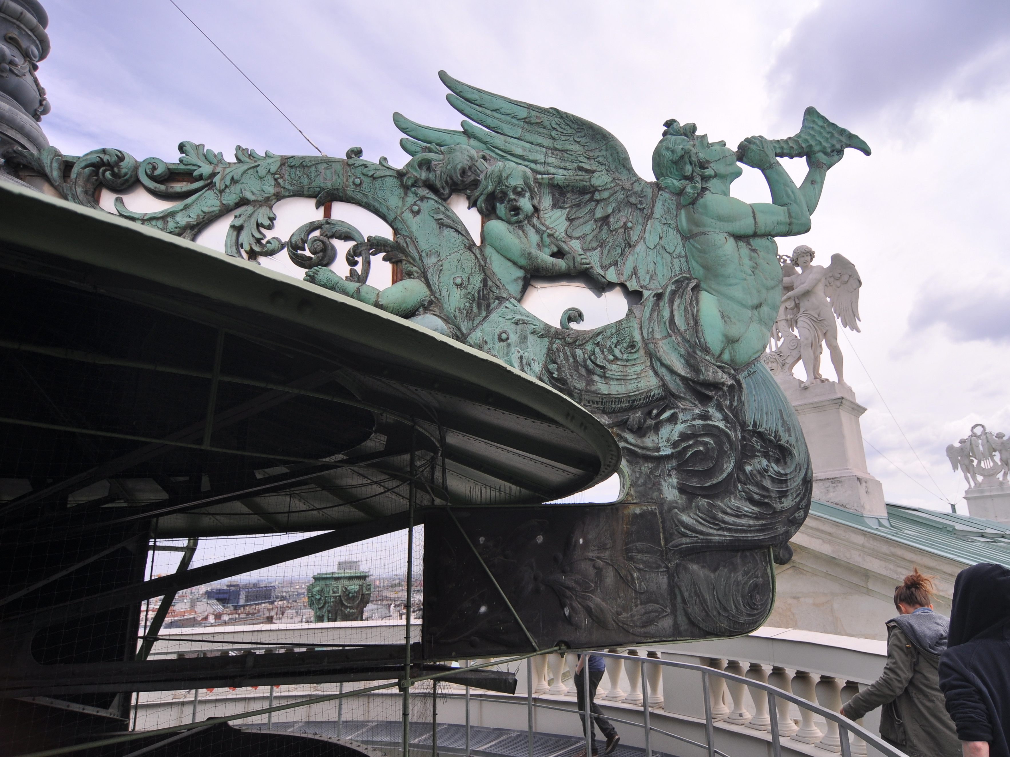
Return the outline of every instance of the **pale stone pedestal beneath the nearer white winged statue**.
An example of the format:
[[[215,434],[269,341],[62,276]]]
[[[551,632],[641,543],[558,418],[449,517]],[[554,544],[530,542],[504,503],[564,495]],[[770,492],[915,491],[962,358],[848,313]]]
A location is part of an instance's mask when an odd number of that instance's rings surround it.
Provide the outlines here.
[[[791,374],[776,376],[800,418],[814,468],[814,499],[887,517],[884,486],[867,470],[860,416],[867,409],[848,387],[835,382],[801,389]]]

